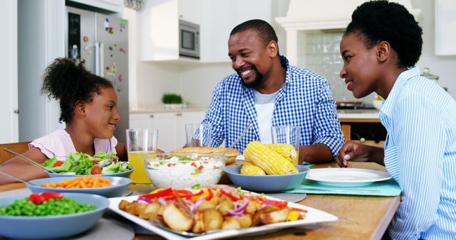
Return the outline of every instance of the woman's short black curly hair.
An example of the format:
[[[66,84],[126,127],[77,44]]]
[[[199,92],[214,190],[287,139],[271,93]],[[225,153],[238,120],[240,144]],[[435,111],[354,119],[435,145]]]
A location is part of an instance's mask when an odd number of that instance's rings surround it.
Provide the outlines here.
[[[412,67],[420,59],[423,29],[404,6],[368,1],[353,11],[344,36],[360,33],[367,48],[385,40],[398,53],[399,67]]]

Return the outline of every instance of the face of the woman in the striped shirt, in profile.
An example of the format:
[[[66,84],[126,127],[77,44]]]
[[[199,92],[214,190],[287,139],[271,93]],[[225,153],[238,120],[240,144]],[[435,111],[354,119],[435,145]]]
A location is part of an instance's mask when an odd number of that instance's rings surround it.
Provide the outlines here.
[[[341,40],[343,67],[340,72],[347,89],[356,98],[366,97],[378,88],[381,65],[378,50],[374,45],[368,49],[364,38],[358,33],[350,33]]]

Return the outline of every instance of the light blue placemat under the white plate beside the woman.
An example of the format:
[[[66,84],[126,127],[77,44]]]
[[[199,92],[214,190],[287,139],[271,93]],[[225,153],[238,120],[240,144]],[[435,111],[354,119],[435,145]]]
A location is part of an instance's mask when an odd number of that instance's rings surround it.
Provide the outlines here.
[[[363,195],[363,196],[398,196],[400,186],[393,178],[381,182],[374,182],[370,185],[355,187],[337,187],[321,185],[313,180],[304,179],[301,185],[289,193],[310,193],[310,194],[331,194],[331,195]]]

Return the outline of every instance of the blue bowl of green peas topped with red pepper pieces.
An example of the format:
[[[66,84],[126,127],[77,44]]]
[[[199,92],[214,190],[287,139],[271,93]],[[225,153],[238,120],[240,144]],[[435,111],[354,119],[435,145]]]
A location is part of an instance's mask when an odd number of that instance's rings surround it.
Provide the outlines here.
[[[83,193],[33,193],[0,199],[0,236],[55,239],[93,227],[109,200]]]

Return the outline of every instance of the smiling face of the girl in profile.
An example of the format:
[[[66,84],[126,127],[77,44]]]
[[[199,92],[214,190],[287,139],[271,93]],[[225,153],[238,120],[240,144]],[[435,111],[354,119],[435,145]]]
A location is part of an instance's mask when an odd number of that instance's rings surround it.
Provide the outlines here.
[[[117,111],[117,94],[112,87],[100,89],[92,102],[86,103],[86,123],[95,138],[109,139],[114,135],[115,125],[120,121]]]

